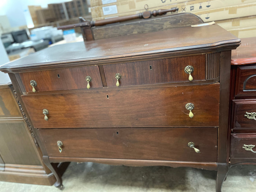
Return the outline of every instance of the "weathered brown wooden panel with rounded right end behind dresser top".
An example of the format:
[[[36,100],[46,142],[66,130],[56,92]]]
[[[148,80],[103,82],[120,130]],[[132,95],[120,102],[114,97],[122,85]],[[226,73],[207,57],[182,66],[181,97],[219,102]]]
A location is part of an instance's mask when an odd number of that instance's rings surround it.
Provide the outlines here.
[[[182,13],[150,19],[137,19],[132,22],[117,23],[116,25],[92,27],[91,30],[93,31],[94,39],[103,39],[121,35],[162,31],[174,27],[191,26],[200,23],[203,23],[203,21],[198,16]]]

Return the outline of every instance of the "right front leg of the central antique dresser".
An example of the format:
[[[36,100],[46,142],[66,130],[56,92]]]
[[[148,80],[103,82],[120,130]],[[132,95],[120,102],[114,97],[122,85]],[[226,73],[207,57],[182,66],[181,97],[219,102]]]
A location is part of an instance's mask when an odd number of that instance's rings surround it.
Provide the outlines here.
[[[218,163],[218,171],[216,178],[216,192],[221,192],[221,187],[223,181],[226,179],[227,172],[229,171],[229,166],[227,163]]]

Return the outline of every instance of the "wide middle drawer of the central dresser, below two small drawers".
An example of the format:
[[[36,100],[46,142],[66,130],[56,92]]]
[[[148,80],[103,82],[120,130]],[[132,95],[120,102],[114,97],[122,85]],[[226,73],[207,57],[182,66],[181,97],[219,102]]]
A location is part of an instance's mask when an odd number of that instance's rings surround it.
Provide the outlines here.
[[[217,127],[219,83],[22,96],[35,128]],[[187,103],[193,103],[193,118]],[[47,109],[48,121],[43,109]]]

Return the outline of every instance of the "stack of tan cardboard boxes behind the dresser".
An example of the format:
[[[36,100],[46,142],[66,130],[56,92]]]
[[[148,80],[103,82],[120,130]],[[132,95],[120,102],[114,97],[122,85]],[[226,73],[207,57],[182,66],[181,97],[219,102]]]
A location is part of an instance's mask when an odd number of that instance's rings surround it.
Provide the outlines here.
[[[149,11],[178,7],[177,13],[215,21],[239,38],[256,36],[256,0],[91,0],[91,15],[93,20],[106,19],[137,14],[145,7]]]

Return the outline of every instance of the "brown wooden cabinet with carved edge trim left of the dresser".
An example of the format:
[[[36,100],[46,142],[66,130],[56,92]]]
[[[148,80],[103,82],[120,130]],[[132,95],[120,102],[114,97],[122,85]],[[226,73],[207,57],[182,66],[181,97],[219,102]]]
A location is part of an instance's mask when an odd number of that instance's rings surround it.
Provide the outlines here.
[[[40,185],[56,181],[42,162],[37,139],[12,84],[0,85],[0,180]]]

